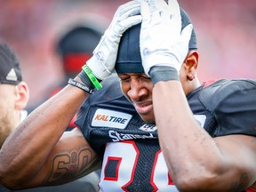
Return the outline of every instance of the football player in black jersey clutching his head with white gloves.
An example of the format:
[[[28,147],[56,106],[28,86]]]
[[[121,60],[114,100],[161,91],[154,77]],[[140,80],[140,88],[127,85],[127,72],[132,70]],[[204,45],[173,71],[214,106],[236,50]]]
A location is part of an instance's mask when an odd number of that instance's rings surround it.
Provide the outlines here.
[[[201,84],[195,43],[175,0],[119,7],[82,71],[4,143],[1,182],[51,185],[101,166],[100,191],[254,190],[256,82]],[[80,129],[62,136],[82,105]]]

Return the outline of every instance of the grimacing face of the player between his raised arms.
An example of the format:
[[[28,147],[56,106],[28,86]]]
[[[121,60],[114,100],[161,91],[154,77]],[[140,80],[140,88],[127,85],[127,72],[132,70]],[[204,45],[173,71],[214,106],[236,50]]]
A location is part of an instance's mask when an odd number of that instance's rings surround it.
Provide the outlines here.
[[[144,73],[119,73],[118,74],[124,96],[147,123],[155,123],[153,110],[151,78]]]

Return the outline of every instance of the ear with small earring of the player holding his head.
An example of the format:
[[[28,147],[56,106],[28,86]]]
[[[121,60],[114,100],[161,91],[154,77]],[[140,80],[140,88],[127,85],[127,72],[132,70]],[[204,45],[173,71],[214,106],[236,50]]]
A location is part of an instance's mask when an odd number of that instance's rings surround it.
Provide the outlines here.
[[[192,81],[196,76],[196,68],[198,66],[199,54],[196,51],[188,52],[186,59],[184,60],[184,68],[189,81]]]

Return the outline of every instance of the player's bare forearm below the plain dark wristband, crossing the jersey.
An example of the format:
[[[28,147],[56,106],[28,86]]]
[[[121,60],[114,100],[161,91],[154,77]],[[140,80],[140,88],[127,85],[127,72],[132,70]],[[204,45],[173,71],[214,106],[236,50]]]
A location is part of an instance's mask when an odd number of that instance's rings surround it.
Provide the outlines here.
[[[225,164],[220,148],[196,124],[180,82],[157,83],[153,103],[160,146],[172,180],[177,184],[182,180],[201,183],[223,171]],[[199,178],[201,180],[196,180]]]

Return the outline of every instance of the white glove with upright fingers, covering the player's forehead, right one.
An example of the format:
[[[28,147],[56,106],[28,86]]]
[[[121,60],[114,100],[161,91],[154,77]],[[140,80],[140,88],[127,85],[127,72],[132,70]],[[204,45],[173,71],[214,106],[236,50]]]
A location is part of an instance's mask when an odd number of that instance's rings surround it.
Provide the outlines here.
[[[142,0],[140,54],[145,73],[154,66],[169,66],[178,73],[188,54],[192,24],[181,31],[177,0]],[[149,76],[149,75],[148,75]]]

